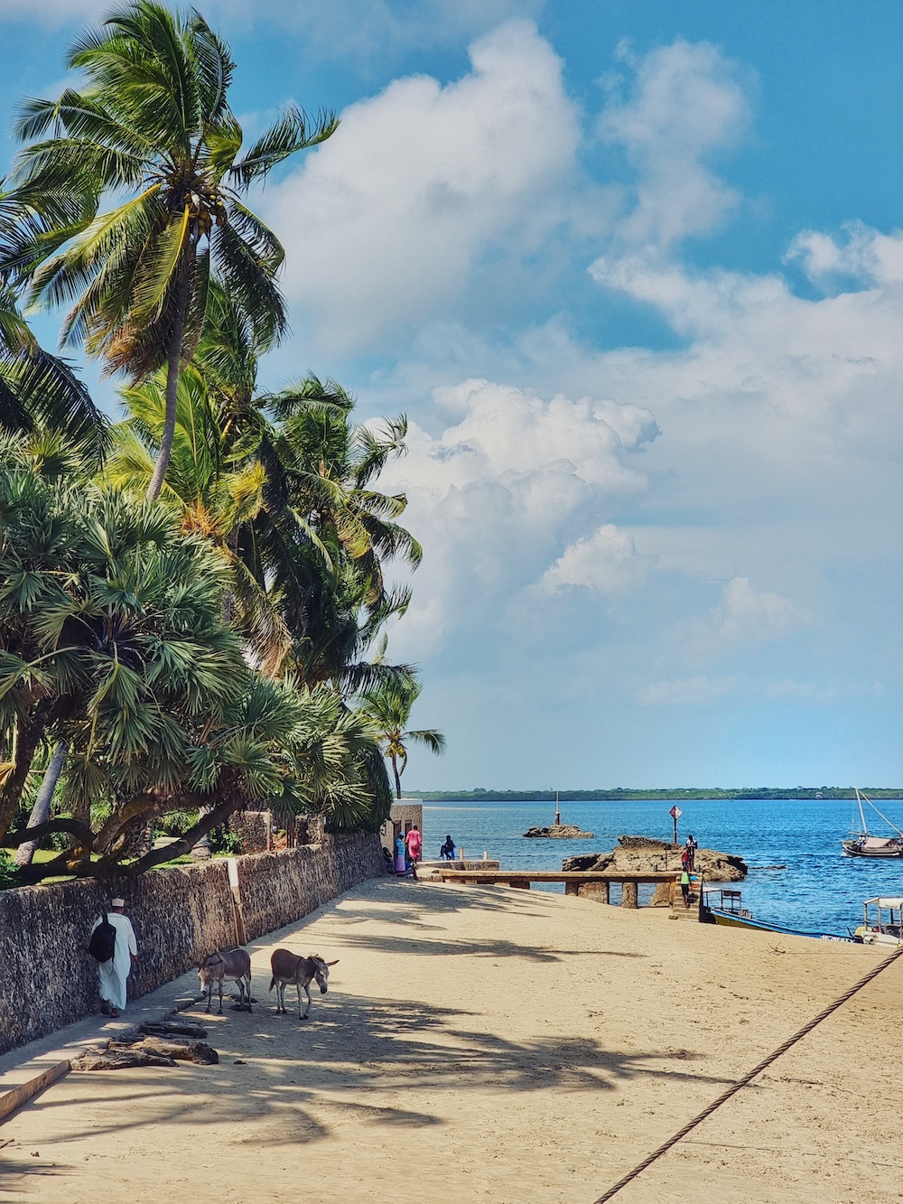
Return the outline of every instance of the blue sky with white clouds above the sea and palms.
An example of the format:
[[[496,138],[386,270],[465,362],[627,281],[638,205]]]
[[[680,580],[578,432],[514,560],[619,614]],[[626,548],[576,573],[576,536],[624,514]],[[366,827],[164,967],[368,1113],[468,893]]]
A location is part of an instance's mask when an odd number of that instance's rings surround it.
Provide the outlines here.
[[[903,786],[898,0],[200,7],[342,118],[262,379],[408,417],[406,789]],[[0,0],[4,114],[105,11]]]

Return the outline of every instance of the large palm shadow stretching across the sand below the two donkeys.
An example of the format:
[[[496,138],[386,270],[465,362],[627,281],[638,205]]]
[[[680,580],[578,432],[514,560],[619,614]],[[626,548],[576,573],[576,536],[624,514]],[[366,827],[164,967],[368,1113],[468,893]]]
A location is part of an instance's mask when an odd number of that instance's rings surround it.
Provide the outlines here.
[[[216,1067],[176,1070],[96,1072],[77,1080],[79,1103],[42,1099],[37,1110],[47,1141],[66,1143],[90,1133],[120,1137],[129,1128],[189,1121],[247,1128],[258,1146],[321,1140],[332,1122],[354,1116],[362,1123],[419,1128],[443,1123],[423,1110],[423,1094],[405,1106],[405,1093],[454,1092],[497,1087],[506,1092],[612,1091],[619,1084],[656,1076],[686,1082],[730,1080],[695,1073],[687,1063],[701,1055],[679,1051],[607,1049],[596,1038],[515,1040],[472,1029],[470,1013],[418,1001],[359,999],[336,992],[314,1007],[311,1021],[277,1016],[268,1009],[238,1014],[212,1034],[220,1051]],[[229,1050],[230,1037],[235,1049]],[[235,1064],[241,1057],[242,1066]],[[102,1090],[101,1088],[101,1084]],[[118,1096],[117,1085],[129,1088]],[[391,1093],[393,1105],[386,1105]],[[98,1123],[92,1100],[102,1094],[118,1105],[108,1123]],[[155,1103],[153,1103],[157,1097]],[[144,1115],[120,1106],[143,1100]],[[148,1102],[150,1108],[148,1109]],[[420,1106],[418,1106],[420,1105]],[[130,1115],[134,1117],[130,1120]]]

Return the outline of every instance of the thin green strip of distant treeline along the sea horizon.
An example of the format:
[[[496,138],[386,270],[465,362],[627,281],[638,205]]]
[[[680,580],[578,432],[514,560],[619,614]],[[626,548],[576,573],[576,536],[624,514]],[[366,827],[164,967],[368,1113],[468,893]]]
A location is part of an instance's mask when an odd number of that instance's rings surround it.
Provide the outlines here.
[[[903,798],[903,790],[890,786],[860,787],[869,798]],[[424,790],[420,793],[405,792],[405,798],[423,798],[425,803],[554,803],[554,790]],[[679,803],[692,798],[855,798],[852,786],[756,786],[743,790],[560,790],[562,803],[618,802],[619,799],[661,799]]]

